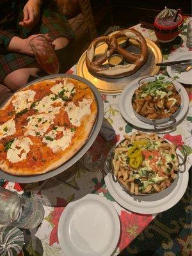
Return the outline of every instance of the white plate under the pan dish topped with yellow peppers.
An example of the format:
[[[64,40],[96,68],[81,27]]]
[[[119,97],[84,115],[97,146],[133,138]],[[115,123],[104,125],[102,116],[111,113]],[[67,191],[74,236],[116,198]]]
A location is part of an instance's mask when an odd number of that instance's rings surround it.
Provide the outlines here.
[[[111,148],[107,157],[109,161],[113,153],[113,148]],[[179,152],[180,151],[177,149],[177,154],[182,156]],[[108,173],[104,180],[109,193],[113,196],[115,201],[125,209],[141,214],[156,214],[173,207],[184,195],[188,187],[189,173],[188,170],[186,170],[186,164],[179,168],[179,175],[177,175],[172,185],[164,191],[161,191],[161,193],[152,195],[134,196],[126,193],[118,182],[113,181],[111,173]],[[105,171],[108,172],[106,166]]]

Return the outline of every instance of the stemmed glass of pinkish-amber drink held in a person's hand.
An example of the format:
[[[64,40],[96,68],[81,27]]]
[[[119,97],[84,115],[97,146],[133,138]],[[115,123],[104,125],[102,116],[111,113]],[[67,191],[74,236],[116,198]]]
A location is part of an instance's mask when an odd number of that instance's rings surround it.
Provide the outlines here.
[[[51,44],[44,35],[35,36],[29,42],[40,67],[49,75],[58,74],[60,63]]]

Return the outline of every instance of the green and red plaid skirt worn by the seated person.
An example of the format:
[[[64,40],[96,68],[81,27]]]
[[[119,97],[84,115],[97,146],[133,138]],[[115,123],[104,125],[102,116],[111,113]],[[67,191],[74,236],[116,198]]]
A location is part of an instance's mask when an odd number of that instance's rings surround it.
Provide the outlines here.
[[[22,12],[19,13],[18,22],[21,19]],[[19,27],[18,31],[0,30],[0,83],[3,82],[4,77],[14,70],[22,68],[35,61],[33,56],[6,51],[6,47],[10,43],[12,37],[17,35],[21,38],[27,38],[29,35],[35,35],[37,33],[49,33],[52,41],[60,36],[65,36],[68,39],[75,36],[68,24],[67,18],[51,9],[43,10],[40,22],[38,22],[33,29]]]

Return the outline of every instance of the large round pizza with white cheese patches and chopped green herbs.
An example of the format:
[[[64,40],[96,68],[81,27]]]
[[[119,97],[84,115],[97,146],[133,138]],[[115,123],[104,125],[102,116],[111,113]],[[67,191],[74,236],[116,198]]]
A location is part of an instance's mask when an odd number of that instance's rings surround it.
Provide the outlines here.
[[[57,77],[16,92],[0,109],[0,168],[36,175],[65,163],[86,143],[97,103],[85,83]]]

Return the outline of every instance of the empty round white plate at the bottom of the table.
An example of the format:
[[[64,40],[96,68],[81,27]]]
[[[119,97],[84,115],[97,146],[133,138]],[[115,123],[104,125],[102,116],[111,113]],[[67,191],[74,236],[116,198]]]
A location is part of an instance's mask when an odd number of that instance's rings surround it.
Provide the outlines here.
[[[58,239],[66,256],[109,256],[120,237],[120,220],[104,197],[88,194],[61,214]]]

